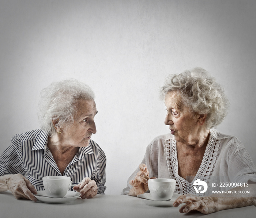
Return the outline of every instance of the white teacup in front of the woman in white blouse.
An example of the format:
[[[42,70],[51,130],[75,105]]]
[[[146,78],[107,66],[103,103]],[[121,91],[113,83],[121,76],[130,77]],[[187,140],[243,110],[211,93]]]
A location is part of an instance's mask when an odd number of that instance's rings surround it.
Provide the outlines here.
[[[175,179],[149,179],[148,189],[154,200],[169,200],[175,190]]]

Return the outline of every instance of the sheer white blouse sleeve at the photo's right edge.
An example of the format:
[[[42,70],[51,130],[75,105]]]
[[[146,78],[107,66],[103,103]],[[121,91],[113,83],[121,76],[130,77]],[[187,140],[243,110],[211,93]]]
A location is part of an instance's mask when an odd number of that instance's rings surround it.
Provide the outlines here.
[[[256,182],[256,167],[242,142],[234,138],[229,146],[228,175],[231,182]]]

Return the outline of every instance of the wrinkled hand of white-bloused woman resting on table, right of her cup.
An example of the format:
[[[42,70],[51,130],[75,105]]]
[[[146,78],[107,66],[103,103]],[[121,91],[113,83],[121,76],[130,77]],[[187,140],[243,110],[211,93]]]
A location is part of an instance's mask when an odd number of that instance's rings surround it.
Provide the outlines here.
[[[210,196],[199,197],[191,194],[179,196],[173,203],[174,207],[185,203],[180,208],[180,213],[188,213],[191,210],[197,210],[203,214],[210,214],[218,211],[218,204],[215,198]]]

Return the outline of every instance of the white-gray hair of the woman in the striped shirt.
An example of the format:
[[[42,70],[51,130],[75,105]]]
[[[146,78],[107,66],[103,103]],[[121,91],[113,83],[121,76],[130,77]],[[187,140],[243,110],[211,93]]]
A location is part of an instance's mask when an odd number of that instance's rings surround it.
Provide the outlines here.
[[[41,128],[52,136],[55,133],[53,122],[67,129],[74,123],[76,101],[94,100],[93,90],[75,79],[54,82],[41,91],[38,120]]]

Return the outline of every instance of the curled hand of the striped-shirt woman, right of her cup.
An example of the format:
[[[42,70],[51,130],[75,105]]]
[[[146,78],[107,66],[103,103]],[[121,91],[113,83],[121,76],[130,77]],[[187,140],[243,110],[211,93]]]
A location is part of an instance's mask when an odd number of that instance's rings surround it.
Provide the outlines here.
[[[84,198],[93,198],[98,193],[98,186],[94,180],[91,180],[89,177],[85,177],[79,185],[73,187],[77,192],[80,192],[80,197]]]

